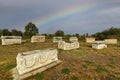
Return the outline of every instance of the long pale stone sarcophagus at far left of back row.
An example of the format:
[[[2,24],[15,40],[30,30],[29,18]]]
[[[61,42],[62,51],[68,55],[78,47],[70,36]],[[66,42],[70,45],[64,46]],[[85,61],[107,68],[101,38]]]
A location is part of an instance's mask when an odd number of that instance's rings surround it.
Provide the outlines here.
[[[21,44],[21,36],[1,36],[2,45]]]

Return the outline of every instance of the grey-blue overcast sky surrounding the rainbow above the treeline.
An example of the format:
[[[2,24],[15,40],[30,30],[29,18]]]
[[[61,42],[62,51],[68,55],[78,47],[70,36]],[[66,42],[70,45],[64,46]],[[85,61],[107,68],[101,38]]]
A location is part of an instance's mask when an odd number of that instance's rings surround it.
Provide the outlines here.
[[[75,8],[81,11],[39,24],[42,18]],[[24,31],[28,22],[36,24],[40,34],[58,29],[66,34],[92,34],[112,26],[120,28],[120,0],[0,0],[0,29]]]

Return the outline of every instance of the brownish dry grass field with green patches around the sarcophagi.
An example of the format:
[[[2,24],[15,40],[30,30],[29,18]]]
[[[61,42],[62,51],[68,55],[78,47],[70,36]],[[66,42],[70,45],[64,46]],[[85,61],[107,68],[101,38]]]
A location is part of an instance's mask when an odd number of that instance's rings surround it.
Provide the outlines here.
[[[0,80],[12,80],[10,70],[16,66],[19,52],[55,48],[52,41],[0,45]],[[120,80],[120,46],[96,50],[91,44],[80,42],[80,48],[63,51],[58,49],[62,63],[26,80]]]

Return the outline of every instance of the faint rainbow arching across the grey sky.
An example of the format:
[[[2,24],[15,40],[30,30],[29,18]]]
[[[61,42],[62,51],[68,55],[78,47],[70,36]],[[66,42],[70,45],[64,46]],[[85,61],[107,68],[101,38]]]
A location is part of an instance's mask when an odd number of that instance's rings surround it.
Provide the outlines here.
[[[74,15],[76,13],[82,13],[88,10],[91,10],[94,8],[95,5],[80,5],[80,6],[72,6],[69,8],[65,8],[55,14],[49,15],[49,16],[45,16],[45,17],[40,17],[37,18],[35,20],[33,20],[33,22],[38,26],[42,26],[44,24],[48,24],[50,22],[53,22],[55,20],[70,16],[70,15]]]

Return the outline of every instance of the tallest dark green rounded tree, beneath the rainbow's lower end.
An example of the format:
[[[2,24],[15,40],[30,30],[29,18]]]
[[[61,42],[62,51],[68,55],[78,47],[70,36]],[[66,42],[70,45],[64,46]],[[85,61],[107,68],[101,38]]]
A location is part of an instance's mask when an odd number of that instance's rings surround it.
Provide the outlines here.
[[[38,28],[36,27],[35,24],[33,24],[32,22],[29,22],[26,26],[25,26],[25,32],[24,35],[31,37],[33,35],[38,34]]]

